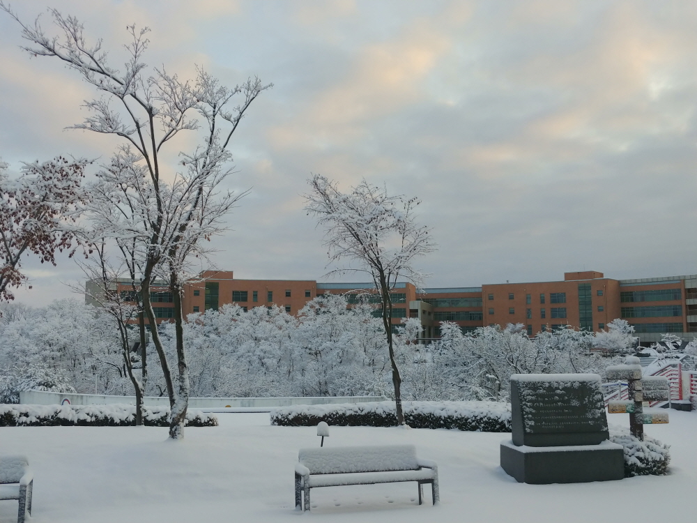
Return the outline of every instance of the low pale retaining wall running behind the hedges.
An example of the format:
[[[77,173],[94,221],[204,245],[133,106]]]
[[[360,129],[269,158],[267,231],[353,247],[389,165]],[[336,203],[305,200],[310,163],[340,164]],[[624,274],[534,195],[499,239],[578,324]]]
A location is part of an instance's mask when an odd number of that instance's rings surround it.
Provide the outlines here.
[[[100,394],[61,394],[44,391],[20,392],[20,403],[32,405],[59,405],[64,402],[71,405],[109,405],[126,403],[135,405],[135,396],[107,396]],[[382,402],[386,398],[379,396],[335,396],[335,397],[190,397],[192,409],[215,409],[220,407],[259,408],[288,407],[290,405],[321,405],[328,403],[364,403]],[[146,396],[144,403],[151,406],[169,407],[168,397]]]

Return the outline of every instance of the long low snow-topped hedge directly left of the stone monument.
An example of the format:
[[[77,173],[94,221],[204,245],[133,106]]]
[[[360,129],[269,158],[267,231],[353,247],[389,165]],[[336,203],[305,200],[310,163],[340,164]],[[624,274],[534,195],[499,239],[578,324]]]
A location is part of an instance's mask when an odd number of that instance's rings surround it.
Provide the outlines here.
[[[405,402],[407,425],[424,429],[510,432],[511,409],[496,402]],[[394,402],[293,405],[271,411],[271,424],[311,427],[320,421],[351,427],[394,427]]]

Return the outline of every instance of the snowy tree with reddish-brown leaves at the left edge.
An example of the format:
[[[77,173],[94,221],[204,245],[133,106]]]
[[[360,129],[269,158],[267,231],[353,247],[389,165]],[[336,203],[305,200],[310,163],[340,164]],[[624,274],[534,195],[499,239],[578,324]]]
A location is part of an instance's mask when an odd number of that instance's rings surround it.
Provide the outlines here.
[[[61,157],[25,163],[20,177],[10,179],[0,160],[0,301],[13,300],[10,289],[26,282],[20,270],[26,252],[55,265],[56,251],[70,250],[86,203],[81,185],[87,163]]]

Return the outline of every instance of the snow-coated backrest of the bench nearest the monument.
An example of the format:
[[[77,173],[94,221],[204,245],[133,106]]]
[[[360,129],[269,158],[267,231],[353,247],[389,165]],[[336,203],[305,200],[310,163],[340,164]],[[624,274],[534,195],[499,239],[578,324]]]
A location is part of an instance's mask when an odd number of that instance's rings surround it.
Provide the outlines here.
[[[301,448],[298,461],[311,474],[416,470],[413,445]]]

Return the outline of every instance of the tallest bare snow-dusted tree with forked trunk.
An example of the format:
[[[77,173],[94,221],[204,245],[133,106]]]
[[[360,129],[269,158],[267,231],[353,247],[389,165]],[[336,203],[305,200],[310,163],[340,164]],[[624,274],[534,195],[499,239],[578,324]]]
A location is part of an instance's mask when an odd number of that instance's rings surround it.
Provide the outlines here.
[[[113,168],[106,169],[102,176],[106,184],[103,197],[109,209],[105,204],[95,209],[99,212],[93,217],[100,221],[105,237],[135,241],[140,247],[138,290],[167,381],[169,435],[181,438],[189,396],[181,328],[187,264],[192,257],[205,254],[202,242],[222,231],[223,215],[240,197],[218,194],[220,183],[232,172],[227,147],[247,109],[270,84],[265,86],[254,78],[229,88],[201,68],[193,82],[182,82],[164,68],[153,68],[148,73],[142,61],[148,47],[148,29],[137,30],[135,25],[128,26],[128,61],[121,73],[109,64],[101,40],[87,43],[83,25],[76,17],[50,10],[61,36],[49,37],[38,19],[33,25],[25,24],[2,1],[0,8],[22,26],[22,36],[30,43],[24,47],[26,51],[63,61],[100,93],[100,98],[86,102],[90,114],[74,128],[115,135],[125,141],[114,156]],[[238,95],[242,100],[232,107]],[[180,153],[181,172],[168,172],[163,165],[163,147],[179,132],[199,129],[192,114],[202,121],[201,142],[193,151]],[[151,304],[151,285],[156,277],[168,282],[174,297],[176,386]]]

